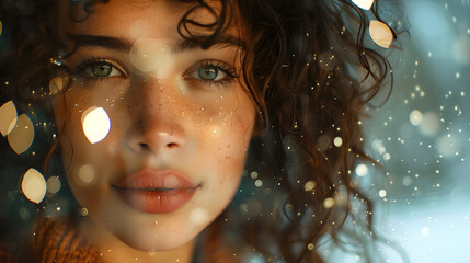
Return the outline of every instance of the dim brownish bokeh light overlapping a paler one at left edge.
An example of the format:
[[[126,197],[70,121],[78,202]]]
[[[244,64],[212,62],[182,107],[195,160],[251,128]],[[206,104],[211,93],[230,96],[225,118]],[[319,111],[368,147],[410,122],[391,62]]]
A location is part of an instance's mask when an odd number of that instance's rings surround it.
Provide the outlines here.
[[[18,116],[14,129],[8,135],[10,147],[21,155],[30,149],[34,140],[34,127],[30,117],[26,114]]]

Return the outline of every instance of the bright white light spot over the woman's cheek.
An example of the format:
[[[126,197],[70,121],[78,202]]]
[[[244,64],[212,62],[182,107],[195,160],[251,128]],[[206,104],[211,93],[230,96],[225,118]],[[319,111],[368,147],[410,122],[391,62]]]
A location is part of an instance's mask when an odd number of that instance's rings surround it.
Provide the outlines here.
[[[90,107],[83,112],[82,127],[87,139],[91,144],[100,142],[110,133],[110,116],[103,107]]]

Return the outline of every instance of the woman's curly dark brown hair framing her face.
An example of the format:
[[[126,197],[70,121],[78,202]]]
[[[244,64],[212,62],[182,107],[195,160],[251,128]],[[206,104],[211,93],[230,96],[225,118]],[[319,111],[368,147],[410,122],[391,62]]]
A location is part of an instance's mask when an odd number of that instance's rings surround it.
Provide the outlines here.
[[[85,1],[87,15],[96,2],[107,1]],[[358,160],[374,162],[363,151],[359,119],[364,106],[391,83],[387,77],[392,71],[378,48],[366,45],[370,15],[349,0],[220,0],[220,10],[204,0],[184,2],[194,7],[181,19],[179,33],[203,48],[216,43],[233,20],[243,25],[242,72],[257,112],[247,171],[255,171],[264,185],[242,186],[252,195],[237,196],[205,230],[202,262],[240,262],[248,250],[270,262],[322,262],[317,252],[321,238],[328,235],[340,243],[340,231],[346,228],[358,253],[371,261],[365,248],[376,240],[372,204],[352,170]],[[199,9],[215,20],[197,21],[192,14]],[[54,0],[1,2],[2,102],[13,99],[23,111],[28,103],[50,111],[48,83],[57,72],[50,61],[64,56],[65,45],[57,30],[58,10]],[[372,12],[378,19],[378,1]],[[194,34],[197,27],[207,34]],[[336,137],[342,144],[335,146]],[[57,141],[44,142],[49,149],[41,156],[45,169]],[[261,208],[250,206],[252,199]],[[347,219],[354,226],[346,226]],[[240,245],[229,247],[229,241]]]

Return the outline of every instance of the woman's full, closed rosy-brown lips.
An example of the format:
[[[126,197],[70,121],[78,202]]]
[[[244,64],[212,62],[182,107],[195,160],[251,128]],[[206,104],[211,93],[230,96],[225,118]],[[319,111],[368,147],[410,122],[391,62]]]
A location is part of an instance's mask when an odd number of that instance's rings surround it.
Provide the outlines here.
[[[199,185],[173,170],[142,169],[112,187],[131,207],[148,214],[164,214],[188,203]]]

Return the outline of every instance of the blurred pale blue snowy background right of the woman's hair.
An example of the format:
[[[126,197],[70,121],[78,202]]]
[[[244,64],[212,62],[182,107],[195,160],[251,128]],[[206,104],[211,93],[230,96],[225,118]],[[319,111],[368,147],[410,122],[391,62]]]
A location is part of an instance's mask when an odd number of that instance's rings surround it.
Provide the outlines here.
[[[364,119],[367,152],[386,171],[355,172],[375,198],[376,228],[409,262],[470,262],[470,0],[403,2],[410,37],[390,57],[393,93]],[[362,262],[322,250],[329,262]]]

